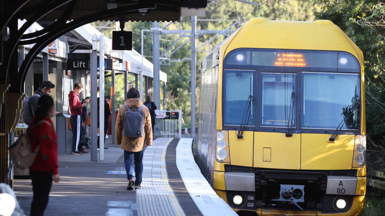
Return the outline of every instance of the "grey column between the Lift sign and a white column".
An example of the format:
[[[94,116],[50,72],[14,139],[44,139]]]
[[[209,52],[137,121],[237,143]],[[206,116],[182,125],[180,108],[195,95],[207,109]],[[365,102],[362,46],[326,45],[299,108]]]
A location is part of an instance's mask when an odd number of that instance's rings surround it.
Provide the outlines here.
[[[92,36],[91,66],[91,161],[97,161],[97,45],[96,35]]]

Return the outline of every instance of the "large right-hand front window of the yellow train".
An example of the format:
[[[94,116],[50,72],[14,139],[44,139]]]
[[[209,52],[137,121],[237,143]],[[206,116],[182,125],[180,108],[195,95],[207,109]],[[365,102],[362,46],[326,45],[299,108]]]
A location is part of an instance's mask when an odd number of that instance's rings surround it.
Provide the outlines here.
[[[302,73],[302,128],[359,129],[360,76],[341,73]],[[352,115],[350,115],[352,113]]]

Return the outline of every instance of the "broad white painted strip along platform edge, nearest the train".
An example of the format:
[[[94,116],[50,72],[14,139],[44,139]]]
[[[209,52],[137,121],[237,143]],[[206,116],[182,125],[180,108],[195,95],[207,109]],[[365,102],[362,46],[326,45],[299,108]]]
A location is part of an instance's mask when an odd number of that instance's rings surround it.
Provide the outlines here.
[[[181,138],[176,147],[176,166],[192,200],[203,215],[234,215],[233,209],[220,198],[195,163],[191,151],[192,138]],[[215,206],[215,208],[213,208]]]

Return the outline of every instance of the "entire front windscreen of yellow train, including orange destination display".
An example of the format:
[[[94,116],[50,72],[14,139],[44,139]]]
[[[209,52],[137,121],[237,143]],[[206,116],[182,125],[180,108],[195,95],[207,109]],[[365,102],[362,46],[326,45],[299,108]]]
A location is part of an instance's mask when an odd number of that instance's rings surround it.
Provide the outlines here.
[[[360,66],[346,52],[239,48],[224,60],[223,99],[225,126],[359,130]]]

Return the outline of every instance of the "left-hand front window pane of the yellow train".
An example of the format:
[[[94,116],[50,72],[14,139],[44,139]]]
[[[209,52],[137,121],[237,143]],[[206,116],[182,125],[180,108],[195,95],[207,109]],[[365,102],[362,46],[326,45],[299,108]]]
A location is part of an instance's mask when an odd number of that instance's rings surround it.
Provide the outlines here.
[[[255,101],[248,107],[249,95],[254,95],[254,70],[224,70],[223,73],[223,123],[224,125],[241,125],[245,110],[246,126],[255,126]]]

